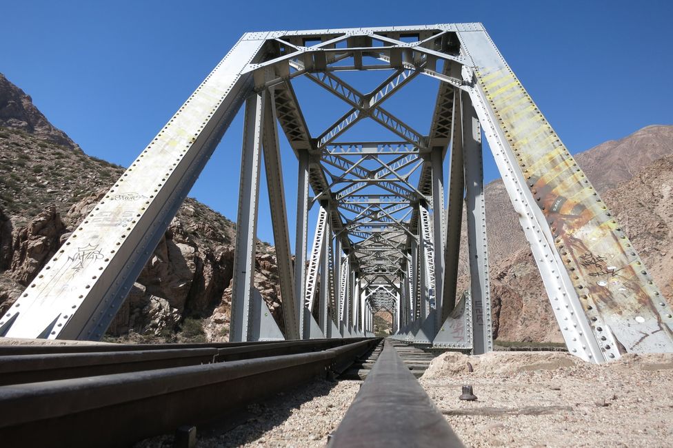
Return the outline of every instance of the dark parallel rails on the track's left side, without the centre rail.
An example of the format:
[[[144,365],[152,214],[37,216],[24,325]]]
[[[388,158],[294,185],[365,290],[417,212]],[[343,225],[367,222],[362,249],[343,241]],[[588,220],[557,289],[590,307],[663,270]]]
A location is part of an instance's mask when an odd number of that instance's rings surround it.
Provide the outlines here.
[[[379,341],[0,347],[0,440],[128,445],[338,376]]]

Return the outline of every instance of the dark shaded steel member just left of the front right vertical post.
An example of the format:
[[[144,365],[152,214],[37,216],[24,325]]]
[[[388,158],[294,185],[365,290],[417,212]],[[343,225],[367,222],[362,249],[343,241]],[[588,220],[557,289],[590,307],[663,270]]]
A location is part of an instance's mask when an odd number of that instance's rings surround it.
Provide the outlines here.
[[[461,90],[454,89],[451,133],[451,165],[449,168],[449,197],[446,220],[446,249],[444,254],[444,291],[442,294],[442,323],[456,305],[456,281],[461,249],[465,174],[463,171],[463,123]]]

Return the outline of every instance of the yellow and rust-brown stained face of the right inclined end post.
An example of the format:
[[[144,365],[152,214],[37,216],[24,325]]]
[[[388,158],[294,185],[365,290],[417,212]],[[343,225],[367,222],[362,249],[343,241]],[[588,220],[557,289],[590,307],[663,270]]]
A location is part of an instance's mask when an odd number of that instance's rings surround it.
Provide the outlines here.
[[[499,77],[489,76],[495,80],[492,85],[503,83],[499,79],[516,80],[506,68],[498,71]],[[652,282],[641,276],[643,263],[632,253],[630,241],[615,232],[619,225],[541,112],[530,107],[534,103],[528,93],[519,83],[518,94],[501,96],[498,88],[489,92],[488,84],[480,83],[552,229],[556,250],[587,316],[601,316],[607,325],[629,325],[631,319],[645,316],[659,327],[648,336],[659,331],[671,335],[650,296]],[[630,349],[643,340],[636,339]]]

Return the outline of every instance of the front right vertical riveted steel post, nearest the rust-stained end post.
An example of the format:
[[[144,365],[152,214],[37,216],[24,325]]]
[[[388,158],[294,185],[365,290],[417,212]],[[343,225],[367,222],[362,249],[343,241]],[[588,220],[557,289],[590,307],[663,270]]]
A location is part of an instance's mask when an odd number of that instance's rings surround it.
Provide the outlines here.
[[[491,294],[488,281],[488,250],[486,244],[486,207],[483,196],[481,125],[468,95],[463,95],[462,112],[474,354],[483,354],[493,349]]]

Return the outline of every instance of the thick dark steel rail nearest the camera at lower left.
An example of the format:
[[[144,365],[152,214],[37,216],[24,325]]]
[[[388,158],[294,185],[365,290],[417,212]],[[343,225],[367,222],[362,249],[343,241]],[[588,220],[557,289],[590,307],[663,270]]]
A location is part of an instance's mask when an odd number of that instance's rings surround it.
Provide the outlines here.
[[[303,354],[0,387],[4,446],[117,447],[341,369],[379,338]]]

